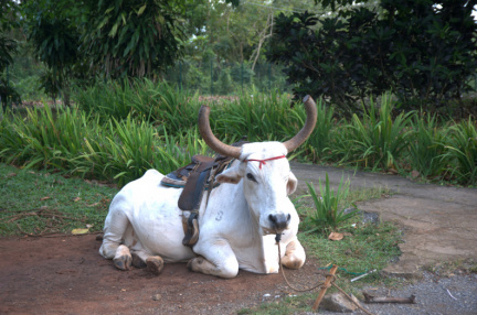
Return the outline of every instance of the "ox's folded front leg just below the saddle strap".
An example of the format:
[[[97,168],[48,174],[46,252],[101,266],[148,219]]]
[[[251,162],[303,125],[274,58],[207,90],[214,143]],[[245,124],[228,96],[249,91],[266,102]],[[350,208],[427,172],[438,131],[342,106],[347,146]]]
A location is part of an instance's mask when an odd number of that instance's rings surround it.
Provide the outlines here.
[[[239,261],[229,243],[224,242],[222,246],[219,246],[214,242],[212,246],[203,248],[208,248],[209,251],[200,251],[197,246],[194,247],[194,251],[204,254],[206,259],[204,257],[191,259],[188,263],[189,270],[221,278],[234,278],[237,275]],[[213,251],[210,251],[211,248]]]

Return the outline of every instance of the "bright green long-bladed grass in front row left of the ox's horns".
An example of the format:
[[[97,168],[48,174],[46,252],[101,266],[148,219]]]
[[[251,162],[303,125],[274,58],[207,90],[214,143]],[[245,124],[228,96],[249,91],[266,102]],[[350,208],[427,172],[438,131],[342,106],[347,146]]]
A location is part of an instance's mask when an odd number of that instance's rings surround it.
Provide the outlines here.
[[[56,118],[47,105],[28,111],[26,118],[6,117],[0,123],[0,160],[24,167],[57,169],[87,178],[117,182],[136,180],[148,169],[169,173],[191,155],[205,154],[199,132],[169,135],[130,117],[100,123],[77,109],[60,109]]]

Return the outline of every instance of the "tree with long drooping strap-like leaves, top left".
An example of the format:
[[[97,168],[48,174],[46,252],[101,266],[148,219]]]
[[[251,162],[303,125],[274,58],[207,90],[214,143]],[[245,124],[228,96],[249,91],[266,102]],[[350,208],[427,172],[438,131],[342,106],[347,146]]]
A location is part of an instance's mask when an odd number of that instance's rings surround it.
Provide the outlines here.
[[[89,1],[83,50],[98,72],[151,77],[182,55],[183,3],[158,0]],[[97,4],[96,4],[97,3]]]

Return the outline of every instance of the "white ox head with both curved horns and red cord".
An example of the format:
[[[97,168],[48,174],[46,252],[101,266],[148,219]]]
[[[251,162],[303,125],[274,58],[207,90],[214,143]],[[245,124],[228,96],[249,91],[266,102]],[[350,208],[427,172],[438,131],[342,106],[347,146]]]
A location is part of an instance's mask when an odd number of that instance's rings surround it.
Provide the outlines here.
[[[307,120],[290,140],[283,143],[246,143],[242,148],[227,145],[215,138],[209,123],[208,106],[202,106],[199,112],[199,130],[206,144],[215,152],[240,161],[220,174],[216,181],[230,184],[243,182],[248,207],[264,235],[280,233],[289,228],[293,217],[297,217],[288,198],[296,189],[297,178],[290,171],[286,155],[304,143],[315,128],[316,104],[309,96],[304,98],[304,104]]]

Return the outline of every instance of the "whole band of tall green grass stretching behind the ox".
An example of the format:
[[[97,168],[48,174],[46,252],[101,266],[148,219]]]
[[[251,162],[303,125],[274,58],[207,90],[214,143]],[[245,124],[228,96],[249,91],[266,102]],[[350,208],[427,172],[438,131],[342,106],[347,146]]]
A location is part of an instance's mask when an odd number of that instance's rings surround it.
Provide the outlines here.
[[[150,80],[98,84],[76,94],[76,109],[29,109],[23,119],[0,121],[0,160],[26,167],[54,167],[124,184],[155,167],[162,173],[212,155],[197,131],[203,101],[198,95]],[[305,109],[274,90],[245,90],[237,98],[210,101],[211,127],[226,143],[285,141],[304,126]],[[475,120],[437,124],[434,117],[394,113],[390,95],[371,101],[351,120],[333,119],[317,100],[310,138],[289,159],[370,170],[418,171],[431,180],[476,184]]]

